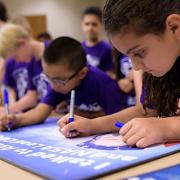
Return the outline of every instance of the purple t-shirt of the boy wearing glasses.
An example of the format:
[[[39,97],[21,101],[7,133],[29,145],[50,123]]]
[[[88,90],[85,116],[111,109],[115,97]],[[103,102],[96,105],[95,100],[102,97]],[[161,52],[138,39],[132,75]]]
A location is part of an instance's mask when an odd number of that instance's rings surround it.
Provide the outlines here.
[[[75,88],[75,106],[89,112],[104,110],[106,114],[123,109],[125,99],[121,96],[117,83],[101,70],[91,66],[88,68],[87,75]],[[69,103],[70,93],[63,95],[49,87],[47,96],[41,102],[55,108],[63,100]]]

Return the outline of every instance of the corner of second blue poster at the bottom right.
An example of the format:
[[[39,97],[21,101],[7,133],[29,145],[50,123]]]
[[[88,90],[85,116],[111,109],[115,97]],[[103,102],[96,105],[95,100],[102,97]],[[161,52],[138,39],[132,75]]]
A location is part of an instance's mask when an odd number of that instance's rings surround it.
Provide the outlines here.
[[[169,168],[154,171],[137,177],[131,177],[127,180],[180,180],[180,164]]]

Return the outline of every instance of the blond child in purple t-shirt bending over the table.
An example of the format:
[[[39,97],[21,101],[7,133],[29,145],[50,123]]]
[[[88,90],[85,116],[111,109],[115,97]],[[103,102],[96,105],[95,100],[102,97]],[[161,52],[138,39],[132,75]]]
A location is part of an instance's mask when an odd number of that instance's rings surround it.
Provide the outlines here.
[[[42,75],[41,57],[47,45],[34,40],[22,26],[6,24],[1,28],[0,55],[10,59],[4,83],[15,89],[17,100],[10,104],[10,112],[32,108],[46,95],[48,83]]]

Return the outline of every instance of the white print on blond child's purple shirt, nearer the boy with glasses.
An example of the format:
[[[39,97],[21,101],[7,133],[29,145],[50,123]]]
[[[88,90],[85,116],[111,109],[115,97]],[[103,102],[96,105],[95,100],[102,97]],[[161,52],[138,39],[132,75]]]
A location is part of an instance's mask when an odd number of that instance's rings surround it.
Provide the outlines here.
[[[43,97],[47,95],[48,89],[48,82],[45,75],[41,73],[33,77],[33,84],[38,92],[38,98],[39,100],[41,100]]]

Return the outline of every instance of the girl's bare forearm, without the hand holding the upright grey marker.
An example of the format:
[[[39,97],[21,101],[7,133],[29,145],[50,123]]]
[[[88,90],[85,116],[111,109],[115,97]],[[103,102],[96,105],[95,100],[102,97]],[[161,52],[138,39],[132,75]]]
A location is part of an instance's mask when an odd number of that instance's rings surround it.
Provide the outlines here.
[[[109,116],[93,119],[91,122],[91,133],[117,131],[117,128],[114,126],[117,121],[126,123],[135,117],[146,117],[140,106],[130,107]]]

